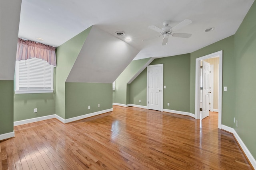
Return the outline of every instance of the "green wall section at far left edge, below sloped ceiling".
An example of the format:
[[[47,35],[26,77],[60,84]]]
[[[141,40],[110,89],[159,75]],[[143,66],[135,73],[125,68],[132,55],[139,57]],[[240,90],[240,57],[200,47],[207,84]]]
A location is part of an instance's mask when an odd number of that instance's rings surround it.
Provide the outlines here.
[[[0,134],[13,132],[13,80],[0,80]]]

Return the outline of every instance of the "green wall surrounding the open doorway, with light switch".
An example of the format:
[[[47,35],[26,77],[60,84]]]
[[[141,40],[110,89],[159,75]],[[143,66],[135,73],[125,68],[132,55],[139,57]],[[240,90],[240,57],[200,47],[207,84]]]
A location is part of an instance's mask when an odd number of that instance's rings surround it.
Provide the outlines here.
[[[195,113],[196,58],[203,57],[220,50],[223,50],[222,86],[228,87],[228,91],[224,92],[222,90],[222,124],[228,127],[233,127],[235,102],[234,35],[191,53],[190,113]]]

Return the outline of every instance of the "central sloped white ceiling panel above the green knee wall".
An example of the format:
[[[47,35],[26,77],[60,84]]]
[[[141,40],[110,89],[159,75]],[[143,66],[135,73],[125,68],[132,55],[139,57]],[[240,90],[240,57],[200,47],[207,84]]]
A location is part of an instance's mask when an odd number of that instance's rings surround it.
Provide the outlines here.
[[[66,82],[112,83],[138,53],[138,49],[93,25]]]

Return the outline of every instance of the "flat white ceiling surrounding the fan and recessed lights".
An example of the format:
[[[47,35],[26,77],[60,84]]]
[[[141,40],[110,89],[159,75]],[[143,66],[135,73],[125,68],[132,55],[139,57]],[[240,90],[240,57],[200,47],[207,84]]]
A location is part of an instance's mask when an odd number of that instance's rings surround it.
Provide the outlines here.
[[[135,59],[167,57],[191,53],[233,35],[254,0],[22,0],[19,37],[58,47],[91,25],[119,37],[140,52]],[[192,33],[189,39],[169,37],[162,46],[162,37],[148,28],[162,28],[164,20],[174,26],[184,19],[192,23],[177,32]],[[208,27],[214,31],[205,32]]]

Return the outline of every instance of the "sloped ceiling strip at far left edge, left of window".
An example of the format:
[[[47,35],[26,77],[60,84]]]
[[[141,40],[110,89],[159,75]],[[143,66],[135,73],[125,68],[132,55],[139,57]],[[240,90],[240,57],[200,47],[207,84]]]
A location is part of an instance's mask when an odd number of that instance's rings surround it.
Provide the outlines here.
[[[0,80],[13,80],[21,0],[0,1]]]

